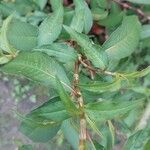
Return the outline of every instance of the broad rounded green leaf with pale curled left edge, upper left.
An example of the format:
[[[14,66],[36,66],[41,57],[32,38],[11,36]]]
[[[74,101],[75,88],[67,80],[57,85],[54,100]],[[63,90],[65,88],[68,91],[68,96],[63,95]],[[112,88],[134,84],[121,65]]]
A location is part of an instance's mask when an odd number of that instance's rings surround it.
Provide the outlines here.
[[[9,16],[1,29],[1,48],[7,52],[31,50],[37,46],[38,28]]]

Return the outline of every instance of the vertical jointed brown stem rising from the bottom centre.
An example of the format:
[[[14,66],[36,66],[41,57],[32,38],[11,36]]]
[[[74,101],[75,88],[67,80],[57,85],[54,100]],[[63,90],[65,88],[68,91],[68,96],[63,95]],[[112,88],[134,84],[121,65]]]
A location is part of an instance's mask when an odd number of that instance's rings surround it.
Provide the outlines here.
[[[79,84],[79,66],[80,61],[75,62],[75,68],[74,68],[74,90],[76,91],[75,97],[77,98],[77,102],[79,105],[80,110],[82,110],[82,113],[80,114],[80,135],[79,135],[79,150],[85,150],[86,149],[86,117],[84,113],[84,102],[83,97],[80,92],[79,87],[77,86]]]

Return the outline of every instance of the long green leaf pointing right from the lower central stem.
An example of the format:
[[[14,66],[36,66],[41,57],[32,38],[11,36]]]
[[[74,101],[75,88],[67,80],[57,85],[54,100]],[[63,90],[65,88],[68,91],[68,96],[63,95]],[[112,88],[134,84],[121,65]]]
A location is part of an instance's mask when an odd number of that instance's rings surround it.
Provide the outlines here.
[[[85,112],[92,120],[105,121],[124,115],[142,103],[143,99],[136,101],[100,101],[88,103],[85,106]]]

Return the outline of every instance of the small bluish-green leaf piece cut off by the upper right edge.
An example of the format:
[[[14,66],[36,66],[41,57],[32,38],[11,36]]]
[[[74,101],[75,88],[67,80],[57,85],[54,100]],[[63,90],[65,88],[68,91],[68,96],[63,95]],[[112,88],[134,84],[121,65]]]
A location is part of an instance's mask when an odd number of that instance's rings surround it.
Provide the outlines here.
[[[150,25],[143,25],[142,32],[141,32],[141,39],[149,38],[150,37]]]

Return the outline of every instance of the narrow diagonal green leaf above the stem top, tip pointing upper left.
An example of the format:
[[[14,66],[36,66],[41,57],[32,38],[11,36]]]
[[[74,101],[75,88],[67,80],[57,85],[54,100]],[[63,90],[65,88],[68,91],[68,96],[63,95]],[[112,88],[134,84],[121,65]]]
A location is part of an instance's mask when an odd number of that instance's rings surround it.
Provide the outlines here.
[[[82,48],[86,57],[97,68],[105,69],[107,65],[107,56],[101,52],[100,47],[94,45],[87,35],[78,33],[70,27],[64,26],[65,30],[70,34]]]

